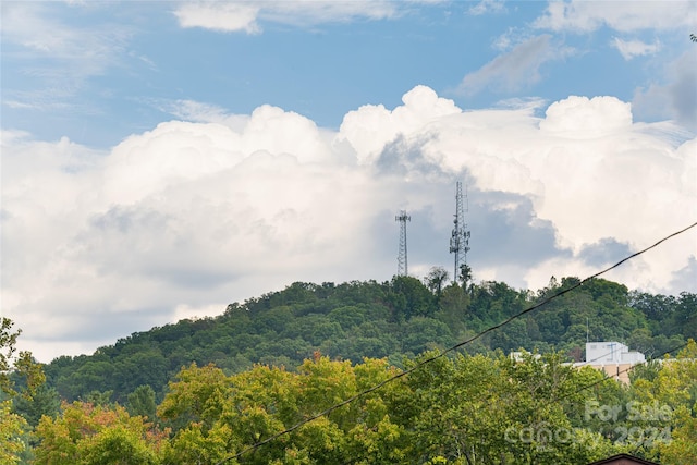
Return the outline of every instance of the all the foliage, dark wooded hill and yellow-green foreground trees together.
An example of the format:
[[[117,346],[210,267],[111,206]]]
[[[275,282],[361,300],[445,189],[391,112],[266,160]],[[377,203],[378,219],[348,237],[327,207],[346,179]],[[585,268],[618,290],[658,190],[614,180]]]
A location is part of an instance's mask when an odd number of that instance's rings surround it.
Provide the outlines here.
[[[438,271],[294,283],[45,366],[14,354],[3,319],[0,462],[697,463],[696,295],[598,279],[438,356],[579,283],[444,285]],[[649,357],[684,348],[624,386],[566,363],[587,336]],[[541,356],[506,355],[521,348]]]

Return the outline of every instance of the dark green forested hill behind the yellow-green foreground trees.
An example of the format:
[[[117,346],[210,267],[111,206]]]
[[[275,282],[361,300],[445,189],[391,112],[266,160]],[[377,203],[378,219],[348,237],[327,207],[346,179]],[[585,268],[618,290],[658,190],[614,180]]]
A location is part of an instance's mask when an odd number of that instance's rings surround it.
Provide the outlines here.
[[[229,374],[254,364],[294,369],[321,353],[355,363],[387,357],[401,366],[405,356],[465,340],[576,283],[576,278],[559,283],[552,279],[548,287],[533,292],[492,281],[442,287],[442,280],[421,282],[412,277],[382,283],[296,282],[231,304],[215,318],[134,333],[90,356],[59,357],[45,371],[48,386],[63,399],[108,393],[112,401],[123,402],[144,384],[161,399],[168,381],[192,363],[212,363]],[[629,292],[622,284],[596,279],[465,350],[555,350],[579,360],[588,330],[591,340],[621,341],[647,356],[659,355],[697,334],[696,315],[696,294]]]

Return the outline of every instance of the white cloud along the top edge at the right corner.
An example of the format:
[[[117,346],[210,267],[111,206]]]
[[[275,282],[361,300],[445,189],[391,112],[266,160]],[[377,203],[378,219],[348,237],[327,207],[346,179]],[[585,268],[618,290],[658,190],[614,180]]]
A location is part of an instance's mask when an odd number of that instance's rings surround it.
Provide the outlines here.
[[[694,26],[693,1],[608,1],[572,0],[549,2],[547,12],[534,23],[537,28],[555,32],[591,33],[607,26],[624,33],[641,29],[670,30]]]

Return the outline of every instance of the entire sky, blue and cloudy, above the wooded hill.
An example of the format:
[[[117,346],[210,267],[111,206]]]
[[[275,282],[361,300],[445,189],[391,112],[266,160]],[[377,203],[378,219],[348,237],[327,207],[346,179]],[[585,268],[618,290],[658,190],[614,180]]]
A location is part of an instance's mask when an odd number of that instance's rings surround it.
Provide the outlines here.
[[[296,281],[585,278],[697,221],[696,1],[0,3],[0,311],[40,362]],[[697,292],[697,228],[603,278]]]

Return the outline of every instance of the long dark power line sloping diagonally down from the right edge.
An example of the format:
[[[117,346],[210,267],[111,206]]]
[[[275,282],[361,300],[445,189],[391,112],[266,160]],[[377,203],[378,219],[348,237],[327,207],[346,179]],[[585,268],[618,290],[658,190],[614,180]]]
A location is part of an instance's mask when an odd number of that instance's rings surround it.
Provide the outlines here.
[[[664,243],[665,241],[668,241],[668,240],[670,240],[672,237],[675,237],[675,236],[677,236],[677,235],[680,235],[680,234],[682,234],[682,233],[684,233],[684,232],[686,232],[686,231],[688,231],[688,230],[690,230],[692,228],[695,228],[695,227],[697,227],[697,222],[694,222],[693,224],[690,224],[690,225],[688,225],[686,228],[683,228],[682,230],[676,231],[676,232],[674,232],[674,233],[661,238],[660,241],[656,242],[655,244],[652,244],[652,245],[650,245],[650,246],[648,246],[648,247],[646,247],[646,248],[644,248],[644,249],[641,249],[639,252],[636,252],[636,253],[623,258],[622,260],[617,261],[616,264],[614,264],[614,265],[612,265],[612,266],[610,266],[610,267],[608,267],[608,268],[606,268],[606,269],[603,269],[601,271],[598,271],[597,273],[591,274],[591,276],[589,276],[588,278],[586,278],[586,279],[584,279],[582,281],[578,281],[576,284],[574,284],[574,285],[572,285],[570,287],[566,287],[564,290],[561,290],[561,291],[552,294],[551,296],[542,299],[541,302],[539,302],[539,303],[537,303],[535,305],[531,305],[530,307],[527,307],[526,309],[524,309],[524,310],[522,310],[522,311],[519,311],[519,313],[506,318],[505,320],[501,321],[500,323],[497,323],[497,325],[494,325],[492,327],[489,327],[489,328],[485,329],[484,331],[473,335],[472,338],[466,339],[466,340],[464,340],[464,341],[462,341],[462,342],[460,342],[460,343],[457,343],[455,345],[452,345],[452,346],[445,348],[444,351],[440,352],[439,354],[436,354],[433,356],[430,356],[430,357],[417,363],[416,365],[414,365],[409,369],[406,369],[406,370],[401,371],[401,372],[399,372],[396,375],[393,375],[392,377],[390,377],[390,378],[388,378],[388,379],[375,384],[371,388],[368,388],[368,389],[366,389],[364,391],[360,391],[360,392],[352,395],[351,397],[348,397],[348,399],[346,399],[346,400],[344,400],[344,401],[342,401],[342,402],[340,402],[338,404],[334,404],[334,405],[330,406],[329,408],[323,409],[322,412],[320,412],[320,413],[318,413],[316,415],[309,416],[309,417],[296,423],[295,425],[284,429],[283,431],[277,432],[276,435],[271,435],[267,439],[265,439],[262,441],[259,441],[259,442],[257,442],[255,444],[252,444],[248,448],[243,449],[242,451],[237,452],[234,455],[231,455],[231,456],[229,456],[227,458],[223,458],[222,461],[218,462],[216,465],[223,464],[223,463],[225,463],[228,461],[231,461],[233,458],[239,458],[239,457],[241,457],[242,455],[244,455],[244,454],[246,454],[248,452],[252,452],[252,451],[255,451],[255,450],[259,449],[264,444],[267,444],[267,443],[269,443],[269,442],[271,442],[271,441],[273,441],[273,440],[276,440],[276,439],[278,439],[278,438],[282,437],[282,436],[285,436],[285,435],[289,435],[289,433],[295,431],[297,428],[299,428],[299,427],[302,427],[304,425],[307,425],[310,421],[314,421],[314,420],[316,420],[318,418],[327,416],[330,413],[332,413],[333,411],[335,411],[338,408],[341,408],[344,405],[347,405],[347,404],[350,404],[350,403],[352,403],[352,402],[354,402],[354,401],[356,401],[356,400],[358,400],[358,399],[360,399],[360,397],[363,397],[363,396],[365,396],[365,395],[367,395],[367,394],[369,394],[371,392],[375,392],[378,389],[382,388],[383,386],[386,386],[386,384],[388,384],[388,383],[390,383],[390,382],[392,382],[392,381],[394,381],[396,379],[400,379],[402,377],[405,377],[405,376],[416,371],[417,369],[421,368],[424,365],[430,364],[431,362],[436,362],[437,359],[444,357],[447,354],[449,354],[449,353],[451,353],[453,351],[456,351],[457,348],[460,348],[460,347],[462,347],[464,345],[467,345],[467,344],[469,344],[469,343],[482,338],[484,335],[486,335],[486,334],[488,334],[488,333],[490,333],[492,331],[496,331],[497,329],[510,323],[511,321],[513,321],[513,320],[515,320],[517,318],[521,318],[522,316],[524,316],[526,314],[529,314],[533,310],[536,310],[537,308],[550,303],[551,301],[553,301],[553,299],[555,299],[558,297],[561,297],[564,294],[567,294],[567,293],[572,292],[573,290],[575,290],[577,287],[580,287],[584,283],[586,283],[588,281],[591,281],[591,280],[598,278],[599,276],[602,276],[602,274],[607,273],[608,271],[620,267],[625,261],[628,261],[628,260],[631,260],[631,259],[633,259],[635,257],[638,257],[639,255],[645,254],[645,253],[649,252],[650,249],[658,247],[660,244]]]

